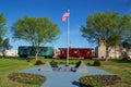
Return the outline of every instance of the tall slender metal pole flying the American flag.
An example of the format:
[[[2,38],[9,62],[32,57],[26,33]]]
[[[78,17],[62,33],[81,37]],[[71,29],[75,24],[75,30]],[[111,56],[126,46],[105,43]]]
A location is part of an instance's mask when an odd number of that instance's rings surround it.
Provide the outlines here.
[[[68,13],[70,13],[70,9],[68,9]],[[70,16],[68,17],[68,50],[67,50],[67,65],[69,65],[69,48],[70,46]]]

